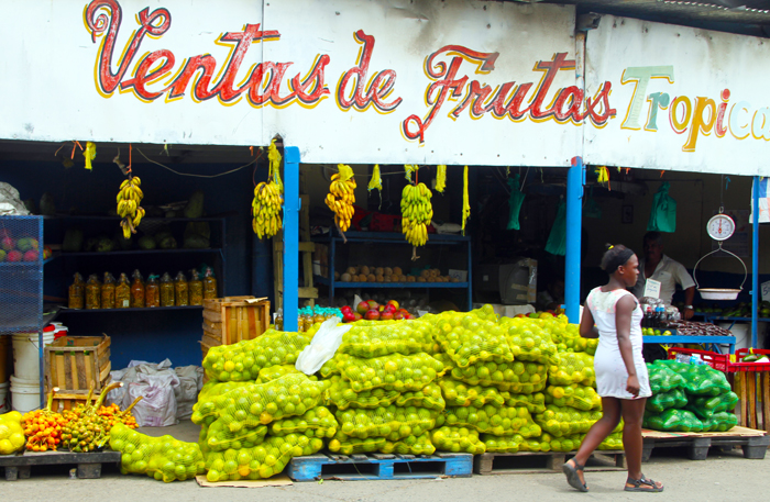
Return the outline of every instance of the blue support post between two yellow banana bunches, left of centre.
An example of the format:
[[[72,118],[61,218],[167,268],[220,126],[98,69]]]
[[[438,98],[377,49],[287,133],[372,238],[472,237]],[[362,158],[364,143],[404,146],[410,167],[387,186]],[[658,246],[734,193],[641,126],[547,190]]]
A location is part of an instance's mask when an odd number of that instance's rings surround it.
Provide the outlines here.
[[[299,148],[284,148],[284,331],[297,331],[299,301]]]

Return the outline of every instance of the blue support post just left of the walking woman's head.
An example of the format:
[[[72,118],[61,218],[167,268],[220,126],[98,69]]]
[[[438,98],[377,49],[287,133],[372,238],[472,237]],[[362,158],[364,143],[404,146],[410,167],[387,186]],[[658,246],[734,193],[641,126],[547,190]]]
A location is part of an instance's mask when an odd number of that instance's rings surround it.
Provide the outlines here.
[[[583,224],[583,158],[574,157],[566,172],[566,255],[564,256],[564,305],[572,323],[580,323],[580,263]]]

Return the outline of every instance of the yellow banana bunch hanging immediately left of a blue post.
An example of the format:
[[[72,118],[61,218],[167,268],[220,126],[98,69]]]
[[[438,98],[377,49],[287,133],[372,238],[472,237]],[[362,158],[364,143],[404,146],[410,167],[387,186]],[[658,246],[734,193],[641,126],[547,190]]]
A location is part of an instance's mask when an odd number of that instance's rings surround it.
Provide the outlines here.
[[[267,181],[260,182],[254,188],[254,200],[252,201],[252,228],[257,237],[271,238],[283,227],[280,220],[280,207],[284,203],[283,188],[280,182],[280,153],[275,146],[275,140],[267,147],[267,158],[270,159],[270,174]]]

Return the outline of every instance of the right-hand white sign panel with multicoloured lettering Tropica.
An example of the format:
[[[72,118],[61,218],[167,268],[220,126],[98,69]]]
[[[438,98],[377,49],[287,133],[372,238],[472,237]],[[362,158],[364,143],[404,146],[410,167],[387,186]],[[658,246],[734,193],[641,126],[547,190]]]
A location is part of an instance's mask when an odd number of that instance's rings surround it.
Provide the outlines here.
[[[767,40],[603,15],[587,34],[586,96],[612,85],[593,165],[770,175]]]

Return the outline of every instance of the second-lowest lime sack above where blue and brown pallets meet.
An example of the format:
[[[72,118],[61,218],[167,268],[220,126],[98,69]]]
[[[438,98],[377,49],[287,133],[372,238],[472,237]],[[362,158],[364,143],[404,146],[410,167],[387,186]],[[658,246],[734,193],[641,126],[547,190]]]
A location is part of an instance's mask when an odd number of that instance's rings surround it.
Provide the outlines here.
[[[496,436],[520,434],[524,437],[539,436],[540,426],[534,421],[526,408],[495,408],[485,404],[483,408],[457,406],[447,408],[437,423],[439,426],[474,428],[480,433]]]

